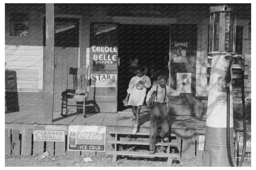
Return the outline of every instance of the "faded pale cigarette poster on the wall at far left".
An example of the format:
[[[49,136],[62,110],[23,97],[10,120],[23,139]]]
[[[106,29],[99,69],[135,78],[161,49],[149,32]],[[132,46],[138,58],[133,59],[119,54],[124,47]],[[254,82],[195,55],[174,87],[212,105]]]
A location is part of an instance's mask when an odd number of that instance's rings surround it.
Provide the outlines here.
[[[6,91],[39,92],[39,70],[6,71]]]

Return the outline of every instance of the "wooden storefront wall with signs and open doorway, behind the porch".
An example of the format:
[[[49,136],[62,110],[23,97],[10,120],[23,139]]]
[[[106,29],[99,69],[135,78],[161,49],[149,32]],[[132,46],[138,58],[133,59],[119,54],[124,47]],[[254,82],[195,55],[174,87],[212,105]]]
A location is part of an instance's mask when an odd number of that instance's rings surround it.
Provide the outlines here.
[[[7,111],[44,110],[49,97],[53,112],[60,112],[62,91],[73,87],[70,68],[87,69],[79,86],[98,112],[124,110],[132,69],[140,65],[151,81],[156,72],[169,74],[174,89],[186,75],[190,83],[170,100],[172,114],[201,117],[210,77],[209,7],[215,5],[54,4],[53,11],[45,4],[6,4]],[[238,9],[236,51],[246,55],[250,91],[250,4],[232,5]],[[54,12],[54,48],[46,44],[46,25],[53,23],[48,10]]]

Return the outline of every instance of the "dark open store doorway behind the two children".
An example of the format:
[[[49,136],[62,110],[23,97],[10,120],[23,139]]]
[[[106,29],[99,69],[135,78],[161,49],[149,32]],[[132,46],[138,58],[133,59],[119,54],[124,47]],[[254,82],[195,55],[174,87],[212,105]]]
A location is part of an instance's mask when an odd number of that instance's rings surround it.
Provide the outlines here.
[[[118,110],[126,109],[122,100],[136,66],[145,69],[151,83],[154,72],[168,74],[169,47],[169,25],[119,25]]]

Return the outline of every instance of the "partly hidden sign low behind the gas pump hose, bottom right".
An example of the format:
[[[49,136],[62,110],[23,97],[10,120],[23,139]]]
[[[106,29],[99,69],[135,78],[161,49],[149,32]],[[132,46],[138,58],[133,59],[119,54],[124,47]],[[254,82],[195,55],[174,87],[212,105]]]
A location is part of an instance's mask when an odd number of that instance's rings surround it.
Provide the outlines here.
[[[244,133],[243,132],[237,132],[236,133],[236,144],[237,144],[237,158],[242,157],[242,147],[244,143]],[[251,133],[246,133],[246,153],[244,158],[251,158],[252,156],[252,140],[251,140]]]

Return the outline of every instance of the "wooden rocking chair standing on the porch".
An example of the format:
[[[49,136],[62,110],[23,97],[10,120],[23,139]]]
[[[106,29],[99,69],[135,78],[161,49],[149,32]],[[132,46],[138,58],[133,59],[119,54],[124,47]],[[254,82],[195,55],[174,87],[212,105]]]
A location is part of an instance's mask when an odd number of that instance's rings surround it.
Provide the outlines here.
[[[70,68],[70,74],[73,75],[73,89],[68,89],[68,74],[66,79],[66,90],[62,92],[62,110],[60,115],[65,117],[70,109],[82,109],[82,114],[86,117],[86,101],[88,93],[86,90],[81,90],[78,87],[78,80],[81,81],[80,88],[82,87],[82,75],[86,75],[86,69]],[[69,104],[71,102],[71,104]],[[75,103],[75,104],[74,104]],[[63,108],[66,112],[63,114]]]

